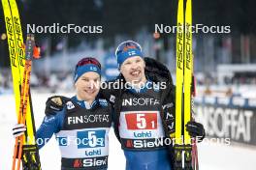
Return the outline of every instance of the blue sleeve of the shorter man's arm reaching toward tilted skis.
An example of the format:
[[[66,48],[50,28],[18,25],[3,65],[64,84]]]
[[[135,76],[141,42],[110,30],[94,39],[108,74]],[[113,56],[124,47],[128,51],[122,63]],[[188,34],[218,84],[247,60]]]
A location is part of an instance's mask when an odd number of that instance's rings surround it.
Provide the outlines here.
[[[39,149],[41,149],[48,143],[48,140],[51,138],[53,133],[58,132],[62,128],[64,117],[65,109],[56,112],[55,115],[45,116],[43,123],[41,124],[40,128],[38,128],[36,133],[36,139]]]

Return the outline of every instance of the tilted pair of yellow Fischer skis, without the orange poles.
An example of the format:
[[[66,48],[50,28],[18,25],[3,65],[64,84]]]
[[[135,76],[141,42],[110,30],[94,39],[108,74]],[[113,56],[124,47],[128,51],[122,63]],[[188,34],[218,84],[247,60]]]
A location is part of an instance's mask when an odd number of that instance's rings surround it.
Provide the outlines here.
[[[21,100],[20,99],[20,96],[21,96],[20,89],[22,84],[21,80],[23,78],[24,62],[25,62],[23,37],[22,37],[21,24],[19,20],[19,14],[16,6],[16,0],[10,0],[10,1],[2,0],[2,5],[4,10],[4,15],[5,15],[9,54],[10,54],[12,76],[13,76],[14,94],[16,99],[16,116],[18,118],[20,100]],[[24,97],[22,100],[25,100],[25,99],[27,100],[28,103],[30,103],[29,96]],[[23,155],[22,155],[23,169],[25,168],[31,169],[32,167],[35,167],[34,169],[41,169],[38,149],[35,143],[35,137],[34,137],[35,126],[34,126],[33,113],[32,113],[30,104],[27,104],[25,115],[26,115],[25,119],[26,119],[27,130],[26,130],[26,133],[22,136],[25,139],[24,142],[22,143],[23,151],[25,151],[23,152]],[[20,123],[20,122],[17,122],[17,123]],[[15,151],[14,156],[16,156],[16,152],[17,151]],[[14,159],[15,158],[16,157],[14,157]]]

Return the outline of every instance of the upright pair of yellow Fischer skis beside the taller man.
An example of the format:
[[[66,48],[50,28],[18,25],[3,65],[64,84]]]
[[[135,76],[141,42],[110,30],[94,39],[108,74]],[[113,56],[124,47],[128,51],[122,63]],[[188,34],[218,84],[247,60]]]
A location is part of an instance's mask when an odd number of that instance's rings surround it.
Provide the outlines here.
[[[185,13],[184,13],[185,12]],[[192,120],[193,54],[192,0],[178,0],[176,30],[175,169],[198,170],[197,148],[186,131]]]

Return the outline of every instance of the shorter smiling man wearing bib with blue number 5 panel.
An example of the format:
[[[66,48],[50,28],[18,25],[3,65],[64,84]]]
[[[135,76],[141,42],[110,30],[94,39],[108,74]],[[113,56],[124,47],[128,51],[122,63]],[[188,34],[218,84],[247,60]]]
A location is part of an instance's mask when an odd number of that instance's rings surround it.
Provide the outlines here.
[[[97,97],[100,78],[101,66],[96,59],[80,60],[74,76],[76,96],[72,99],[54,97],[52,111],[46,110],[46,117],[36,132],[39,148],[55,134],[62,170],[108,168],[112,106],[106,99]],[[53,102],[51,99],[47,103]],[[24,130],[23,125],[16,125],[14,135],[21,135]]]

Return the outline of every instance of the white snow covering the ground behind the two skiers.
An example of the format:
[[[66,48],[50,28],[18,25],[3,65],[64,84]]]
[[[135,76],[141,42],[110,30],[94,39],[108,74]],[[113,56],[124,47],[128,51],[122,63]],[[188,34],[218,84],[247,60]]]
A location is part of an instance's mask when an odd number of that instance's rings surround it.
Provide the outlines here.
[[[56,94],[54,94],[56,95]],[[45,102],[50,94],[32,93],[36,127],[39,128],[45,111]],[[67,95],[71,97],[72,94]],[[15,139],[12,128],[16,124],[15,99],[13,96],[0,96],[0,169],[11,169]],[[256,167],[256,148],[225,146],[216,143],[199,144],[201,170],[253,170]],[[40,150],[42,169],[60,169],[60,153],[54,137]],[[110,133],[109,169],[125,169],[125,159],[120,144]]]

